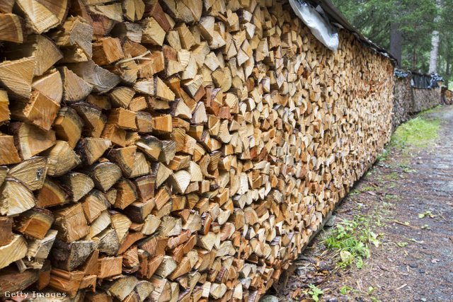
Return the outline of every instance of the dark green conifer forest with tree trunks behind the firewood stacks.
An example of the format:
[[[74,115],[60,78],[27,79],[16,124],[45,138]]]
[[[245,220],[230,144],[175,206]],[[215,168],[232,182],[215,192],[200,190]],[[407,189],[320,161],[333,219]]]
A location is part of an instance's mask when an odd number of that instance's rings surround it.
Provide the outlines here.
[[[333,0],[398,68],[437,73],[453,88],[453,0]]]

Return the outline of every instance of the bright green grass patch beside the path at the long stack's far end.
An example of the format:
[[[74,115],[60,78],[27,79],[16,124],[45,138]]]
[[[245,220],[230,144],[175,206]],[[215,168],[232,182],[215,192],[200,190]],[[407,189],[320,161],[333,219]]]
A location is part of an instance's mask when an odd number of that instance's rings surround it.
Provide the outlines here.
[[[391,137],[391,145],[400,149],[406,146],[427,147],[437,139],[440,120],[427,117],[427,112],[401,124]]]

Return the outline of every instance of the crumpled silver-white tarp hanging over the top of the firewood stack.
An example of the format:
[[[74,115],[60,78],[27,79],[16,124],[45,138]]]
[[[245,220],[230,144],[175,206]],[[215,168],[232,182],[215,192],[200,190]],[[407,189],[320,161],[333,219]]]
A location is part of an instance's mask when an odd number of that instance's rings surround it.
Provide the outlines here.
[[[289,0],[289,4],[296,15],[308,26],[311,33],[323,43],[329,50],[336,52],[338,49],[338,32],[328,22],[327,18],[321,16],[322,8],[313,8],[304,0]],[[319,11],[321,13],[319,13]]]

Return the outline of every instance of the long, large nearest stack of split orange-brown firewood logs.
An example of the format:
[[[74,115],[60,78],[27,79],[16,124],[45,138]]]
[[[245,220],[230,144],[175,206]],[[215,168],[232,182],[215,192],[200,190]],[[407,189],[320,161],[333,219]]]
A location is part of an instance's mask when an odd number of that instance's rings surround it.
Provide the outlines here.
[[[389,139],[390,60],[286,2],[0,11],[2,295],[258,301]]]

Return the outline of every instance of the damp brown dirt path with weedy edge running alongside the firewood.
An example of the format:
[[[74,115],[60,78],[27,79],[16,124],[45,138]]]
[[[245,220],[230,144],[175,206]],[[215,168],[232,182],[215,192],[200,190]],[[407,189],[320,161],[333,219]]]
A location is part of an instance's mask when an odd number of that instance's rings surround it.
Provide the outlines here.
[[[440,124],[438,138],[388,147],[340,204],[335,226],[294,262],[280,301],[313,301],[319,290],[331,302],[453,301],[453,106],[419,119]],[[350,251],[343,262],[340,250]]]

